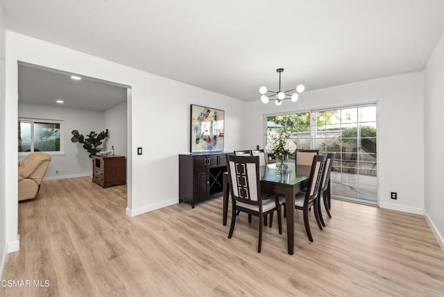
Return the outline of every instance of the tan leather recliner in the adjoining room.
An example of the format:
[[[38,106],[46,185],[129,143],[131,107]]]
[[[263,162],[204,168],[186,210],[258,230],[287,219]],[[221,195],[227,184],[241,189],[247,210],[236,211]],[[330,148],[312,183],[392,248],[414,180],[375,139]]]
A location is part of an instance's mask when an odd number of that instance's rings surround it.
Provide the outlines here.
[[[30,153],[19,163],[19,201],[37,196],[50,161],[47,153]]]

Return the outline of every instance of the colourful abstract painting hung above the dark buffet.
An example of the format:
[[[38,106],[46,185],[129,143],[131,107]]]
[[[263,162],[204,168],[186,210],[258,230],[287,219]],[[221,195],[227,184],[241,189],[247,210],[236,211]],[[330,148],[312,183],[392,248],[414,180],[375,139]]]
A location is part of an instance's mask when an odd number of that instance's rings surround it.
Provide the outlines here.
[[[191,104],[190,153],[223,152],[225,112]]]

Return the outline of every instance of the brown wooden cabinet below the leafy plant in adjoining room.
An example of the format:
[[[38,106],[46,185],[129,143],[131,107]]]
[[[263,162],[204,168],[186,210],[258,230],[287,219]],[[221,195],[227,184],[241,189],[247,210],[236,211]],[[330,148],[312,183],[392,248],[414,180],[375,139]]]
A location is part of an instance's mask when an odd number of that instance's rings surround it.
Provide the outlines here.
[[[92,181],[101,187],[125,185],[125,157],[114,155],[92,156]]]

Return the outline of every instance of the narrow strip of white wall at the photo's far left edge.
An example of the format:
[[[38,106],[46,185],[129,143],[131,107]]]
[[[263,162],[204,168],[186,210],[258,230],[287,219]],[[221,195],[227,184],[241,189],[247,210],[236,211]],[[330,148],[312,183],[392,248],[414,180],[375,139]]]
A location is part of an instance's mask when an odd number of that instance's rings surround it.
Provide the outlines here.
[[[0,163],[5,164],[5,53],[6,31],[3,8],[0,5]],[[0,279],[6,252],[6,167],[0,167]]]

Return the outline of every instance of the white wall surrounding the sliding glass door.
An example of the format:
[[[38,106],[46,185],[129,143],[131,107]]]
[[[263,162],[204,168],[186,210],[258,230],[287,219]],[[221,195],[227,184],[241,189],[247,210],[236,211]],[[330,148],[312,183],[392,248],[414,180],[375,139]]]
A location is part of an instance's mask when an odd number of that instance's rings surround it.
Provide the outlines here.
[[[297,103],[280,106],[258,99],[248,104],[246,147],[264,145],[263,114],[377,102],[379,205],[422,214],[423,85],[420,71],[306,92]],[[391,200],[390,192],[398,192],[398,200]]]

